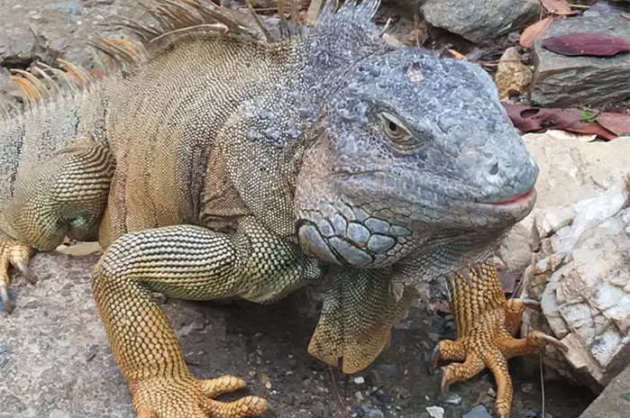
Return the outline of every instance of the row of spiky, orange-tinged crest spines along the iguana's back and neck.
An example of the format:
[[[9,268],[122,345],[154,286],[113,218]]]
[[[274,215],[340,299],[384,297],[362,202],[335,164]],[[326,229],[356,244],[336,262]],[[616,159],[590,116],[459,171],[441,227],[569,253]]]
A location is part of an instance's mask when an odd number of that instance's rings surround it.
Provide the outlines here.
[[[313,19],[313,15],[319,14],[319,19],[313,23],[323,32],[326,32],[326,27],[334,26],[335,22],[336,24],[347,22],[358,24],[365,34],[370,36],[374,32],[371,21],[379,3],[379,0],[366,0],[357,4],[356,0],[351,0],[337,10],[337,0],[324,0],[323,9],[318,13],[320,1],[319,5],[309,10],[309,21]],[[157,24],[152,26],[127,17],[115,16],[116,21],[113,24],[134,33],[138,41],[106,40],[100,37],[89,40],[88,44],[105,56],[105,59],[95,59],[95,69],[80,68],[59,59],[61,69],[37,63],[30,72],[13,70],[14,75],[11,78],[23,95],[24,107],[32,110],[50,101],[87,92],[103,78],[120,74],[123,68],[142,65],[151,57],[151,51],[159,49],[168,41],[177,40],[178,36],[187,32],[231,33],[251,40],[264,40],[269,43],[278,41],[262,23],[251,5],[249,8],[252,23],[243,22],[232,11],[209,0],[151,0],[149,5],[144,5],[138,0],[137,8],[150,14]],[[290,6],[287,6],[287,2],[278,1],[278,12],[280,38],[296,36],[306,30],[304,25],[298,23],[297,0],[291,0]],[[11,117],[15,109],[17,108],[13,104],[0,103],[0,115],[4,111],[7,117]],[[17,112],[21,113],[19,110]]]

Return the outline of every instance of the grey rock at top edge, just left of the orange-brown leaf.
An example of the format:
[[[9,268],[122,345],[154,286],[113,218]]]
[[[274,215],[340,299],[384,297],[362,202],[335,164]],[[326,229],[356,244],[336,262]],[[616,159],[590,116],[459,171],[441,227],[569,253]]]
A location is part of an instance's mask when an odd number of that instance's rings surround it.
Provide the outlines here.
[[[428,0],[420,6],[428,23],[480,43],[497,37],[540,13],[537,0]]]

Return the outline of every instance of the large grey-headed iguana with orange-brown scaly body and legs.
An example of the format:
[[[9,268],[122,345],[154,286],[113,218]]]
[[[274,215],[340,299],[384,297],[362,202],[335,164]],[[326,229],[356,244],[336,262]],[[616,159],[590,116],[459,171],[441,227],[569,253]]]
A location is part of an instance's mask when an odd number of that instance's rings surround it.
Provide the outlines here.
[[[378,6],[328,2],[273,40],[258,18],[155,0],[160,25],[125,23],[142,45],[95,41],[105,76],[15,77],[31,104],[0,125],[5,310],[10,265],[31,275],[32,250],[97,239],[93,294],[137,416],[240,417],[267,402],[216,401],[245,382],[193,377],[152,291],[267,303],[323,282],[309,351],[352,373],[416,286],[447,277],[460,340],[433,361],[465,361],[443,389],[488,365],[509,415],[506,358],[558,341],[512,339],[523,305],[483,261],[530,212],[537,168],[488,75],[390,46]]]

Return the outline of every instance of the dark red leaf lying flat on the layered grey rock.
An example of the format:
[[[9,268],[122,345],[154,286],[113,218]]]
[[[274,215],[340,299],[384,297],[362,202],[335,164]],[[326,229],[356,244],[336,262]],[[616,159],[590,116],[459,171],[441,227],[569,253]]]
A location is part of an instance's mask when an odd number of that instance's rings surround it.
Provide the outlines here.
[[[604,33],[571,33],[545,38],[542,43],[547,50],[570,57],[576,55],[610,57],[630,50],[630,43],[627,41]]]

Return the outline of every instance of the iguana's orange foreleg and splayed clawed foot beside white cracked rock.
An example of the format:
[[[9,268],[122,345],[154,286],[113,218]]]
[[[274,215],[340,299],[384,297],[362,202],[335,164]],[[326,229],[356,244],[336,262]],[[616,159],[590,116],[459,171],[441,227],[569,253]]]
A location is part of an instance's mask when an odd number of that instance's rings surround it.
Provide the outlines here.
[[[525,304],[518,299],[506,300],[496,268],[483,264],[476,270],[470,271],[470,280],[457,275],[449,283],[458,338],[440,341],[435,346],[430,367],[434,369],[440,359],[460,361],[443,368],[443,396],[453,383],[468,380],[489,368],[498,389],[494,413],[507,418],[512,405],[507,359],[534,353],[548,344],[563,351],[567,348],[561,341],[538,331],[525,338],[514,338]]]

